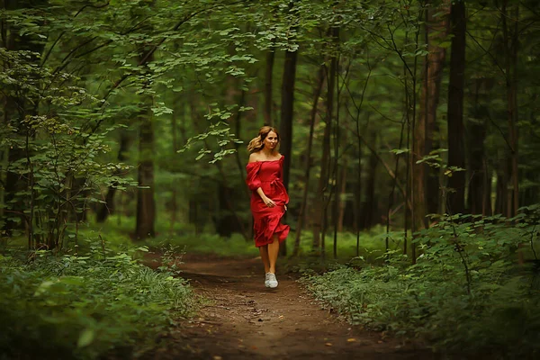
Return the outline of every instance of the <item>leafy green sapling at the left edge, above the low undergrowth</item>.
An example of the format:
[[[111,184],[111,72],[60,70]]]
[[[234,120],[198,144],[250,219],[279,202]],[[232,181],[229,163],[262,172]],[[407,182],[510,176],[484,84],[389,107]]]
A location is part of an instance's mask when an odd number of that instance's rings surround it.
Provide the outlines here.
[[[9,220],[23,221],[29,228],[29,247],[61,248],[69,213],[81,213],[87,202],[97,202],[100,186],[125,189],[134,183],[116,175],[130,166],[100,159],[110,150],[108,132],[118,126],[85,130],[100,102],[75,85],[75,76],[39,67],[39,57],[31,51],[0,48],[0,62],[12,64],[0,76],[5,94],[14,98],[24,94],[34,103],[33,110],[6,114],[8,121],[0,125],[0,148],[18,154],[0,167],[0,175],[16,175],[26,185],[7,205],[14,206]],[[47,107],[42,114],[40,103]]]

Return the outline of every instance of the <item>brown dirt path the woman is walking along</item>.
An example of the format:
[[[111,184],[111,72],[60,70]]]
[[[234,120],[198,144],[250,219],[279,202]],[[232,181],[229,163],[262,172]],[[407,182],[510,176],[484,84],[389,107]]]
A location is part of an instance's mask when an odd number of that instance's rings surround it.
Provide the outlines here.
[[[427,348],[353,327],[322,310],[296,281],[278,274],[267,289],[259,257],[183,258],[182,276],[208,299],[145,359],[436,359]],[[278,269],[279,273],[279,269]]]

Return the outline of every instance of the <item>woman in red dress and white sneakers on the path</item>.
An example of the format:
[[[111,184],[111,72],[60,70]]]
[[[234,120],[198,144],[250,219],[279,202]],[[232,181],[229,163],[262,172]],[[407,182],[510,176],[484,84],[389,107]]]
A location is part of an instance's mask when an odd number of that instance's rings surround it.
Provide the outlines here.
[[[270,127],[259,130],[257,138],[249,141],[247,186],[251,190],[251,213],[255,230],[255,246],[265,265],[266,287],[277,287],[275,261],[279,244],[287,238],[289,226],[281,223],[287,210],[289,195],[283,183],[284,157],[277,148],[279,134]]]

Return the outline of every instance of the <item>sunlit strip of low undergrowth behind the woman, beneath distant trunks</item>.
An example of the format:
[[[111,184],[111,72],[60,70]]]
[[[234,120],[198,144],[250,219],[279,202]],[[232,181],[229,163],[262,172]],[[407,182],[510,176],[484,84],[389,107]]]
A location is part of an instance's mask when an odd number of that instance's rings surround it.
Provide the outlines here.
[[[87,225],[79,226],[81,238],[93,238],[92,244],[100,244],[102,241],[108,248],[123,250],[130,247],[130,238],[135,229],[135,219],[112,215],[104,223],[90,221]],[[362,257],[370,261],[377,261],[384,253],[384,232],[383,226],[375,226],[373,229],[363,231],[359,238],[359,251]],[[71,229],[72,231],[74,229]],[[293,253],[294,239],[296,234],[292,229],[285,241],[288,255]],[[70,246],[74,246],[73,239]],[[351,257],[356,256],[356,234],[351,232],[338,233],[338,261],[347,262]],[[241,234],[233,233],[230,237],[221,237],[213,229],[197,233],[193,224],[175,222],[172,225],[166,217],[158,217],[156,222],[156,237],[141,240],[139,244],[150,248],[159,249],[166,246],[183,248],[188,254],[213,254],[222,257],[257,257],[259,252],[254,246],[253,239],[244,238]],[[332,244],[333,235],[326,237],[327,259],[333,260]],[[85,247],[85,244],[78,244]],[[391,243],[392,248],[401,247],[401,240],[396,239]],[[21,246],[24,246],[22,241]],[[294,266],[303,268],[313,266],[319,261],[319,254],[312,252],[312,233],[304,230],[300,244],[299,256],[292,260]],[[289,261],[288,260],[288,261]],[[284,257],[280,257],[284,261]],[[290,266],[293,267],[293,266]]]

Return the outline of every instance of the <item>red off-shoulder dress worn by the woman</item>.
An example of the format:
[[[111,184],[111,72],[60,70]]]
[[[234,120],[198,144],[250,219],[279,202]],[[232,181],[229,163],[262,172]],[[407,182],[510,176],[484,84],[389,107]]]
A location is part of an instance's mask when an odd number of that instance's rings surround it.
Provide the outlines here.
[[[289,234],[289,226],[281,223],[285,213],[285,204],[289,195],[283,183],[284,157],[278,160],[256,161],[248,163],[247,186],[251,190],[251,213],[253,214],[255,230],[255,246],[262,247],[272,243],[277,235],[281,243]],[[269,208],[257,193],[261,187],[266,197],[275,202],[275,207]]]

